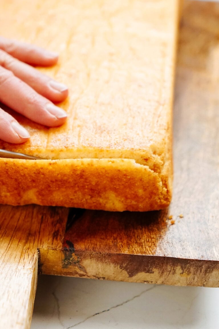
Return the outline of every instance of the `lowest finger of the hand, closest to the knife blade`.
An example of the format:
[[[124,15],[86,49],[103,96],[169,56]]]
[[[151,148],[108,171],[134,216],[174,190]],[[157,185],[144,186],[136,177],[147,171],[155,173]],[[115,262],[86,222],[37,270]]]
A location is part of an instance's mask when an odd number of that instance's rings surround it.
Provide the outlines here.
[[[30,135],[10,114],[0,108],[0,139],[20,144],[26,142]]]

